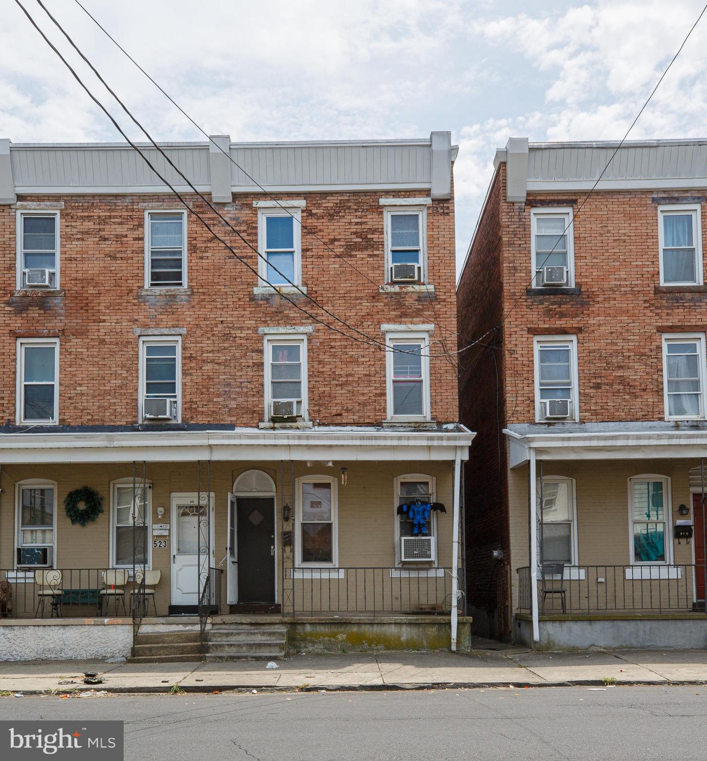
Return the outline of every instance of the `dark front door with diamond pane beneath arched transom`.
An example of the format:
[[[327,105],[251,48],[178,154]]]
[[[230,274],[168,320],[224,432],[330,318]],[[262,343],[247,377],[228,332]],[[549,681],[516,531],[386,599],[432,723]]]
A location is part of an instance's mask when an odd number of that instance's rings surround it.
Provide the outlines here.
[[[238,603],[275,601],[275,517],[272,497],[239,497]]]

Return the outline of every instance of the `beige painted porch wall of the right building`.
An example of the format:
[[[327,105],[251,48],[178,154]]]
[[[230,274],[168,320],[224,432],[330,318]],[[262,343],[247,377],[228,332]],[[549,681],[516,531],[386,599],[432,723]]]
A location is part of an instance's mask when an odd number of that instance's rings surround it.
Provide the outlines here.
[[[575,460],[545,461],[544,476],[576,481],[579,565],[629,565],[629,478],[652,474],[671,479],[673,525],[678,505],[690,508],[690,468],[699,460]],[[540,469],[537,470],[540,473]],[[528,466],[509,470],[509,521],[513,610],[518,607],[518,574],[528,565]],[[672,537],[672,530],[671,530]],[[692,544],[673,542],[676,564],[693,562]]]

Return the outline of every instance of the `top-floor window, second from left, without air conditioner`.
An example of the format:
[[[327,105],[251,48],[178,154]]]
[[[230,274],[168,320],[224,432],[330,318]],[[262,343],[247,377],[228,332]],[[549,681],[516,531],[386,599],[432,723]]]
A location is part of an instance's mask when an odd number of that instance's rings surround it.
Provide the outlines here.
[[[145,287],[186,285],[186,212],[145,212]]]

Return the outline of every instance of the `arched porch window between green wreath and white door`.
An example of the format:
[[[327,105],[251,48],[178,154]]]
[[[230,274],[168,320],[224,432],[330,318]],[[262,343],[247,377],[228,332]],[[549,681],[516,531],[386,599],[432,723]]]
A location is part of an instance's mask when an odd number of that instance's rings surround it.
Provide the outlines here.
[[[150,565],[152,490],[141,481],[119,479],[111,484],[111,564],[115,568]]]

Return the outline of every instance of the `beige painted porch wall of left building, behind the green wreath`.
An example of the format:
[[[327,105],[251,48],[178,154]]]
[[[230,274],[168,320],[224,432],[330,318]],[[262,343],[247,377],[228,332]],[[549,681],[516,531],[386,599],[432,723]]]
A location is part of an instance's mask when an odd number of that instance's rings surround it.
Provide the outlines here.
[[[271,463],[211,463],[211,491],[214,492],[214,547],[212,563],[224,558],[227,544],[227,501],[233,482],[246,470],[263,470],[277,485],[278,574],[281,586],[282,554],[281,476],[280,465]],[[341,466],[347,467],[347,486],[341,486]],[[138,463],[138,476],[141,466]],[[195,463],[147,464],[147,479],[152,482],[152,524],[170,521],[170,494],[196,492]],[[338,479],[338,537],[339,566],[392,566],[394,547],[394,488],[395,476],[417,473],[436,478],[436,499],[442,501],[446,514],[437,515],[439,565],[452,565],[452,473],[453,463],[350,463],[334,462],[294,464],[294,477],[325,475]],[[106,568],[109,565],[109,484],[115,479],[132,477],[132,463],[88,465],[24,465],[5,466],[0,473],[0,568],[14,567],[15,488],[14,482],[25,479],[47,479],[57,484],[56,556],[57,568]],[[103,495],[103,514],[86,527],[71,525],[64,512],[64,498],[72,489],[90,486]],[[202,465],[201,490],[206,491],[206,468]],[[289,495],[286,495],[289,501]],[[290,502],[290,505],[293,503]],[[162,519],[157,508],[165,510]],[[290,521],[293,526],[294,521]],[[150,537],[150,542],[153,537]],[[156,537],[163,538],[163,537]],[[168,537],[171,540],[171,536]],[[152,568],[162,572],[157,586],[157,610],[166,613],[170,604],[171,549],[152,549]],[[225,563],[222,565],[225,570]],[[239,569],[241,572],[243,569]],[[225,573],[223,601],[226,602]],[[127,604],[127,600],[126,600]]]

